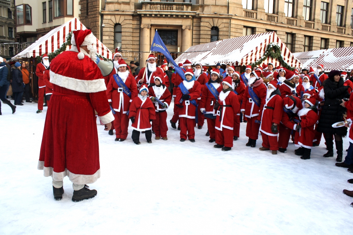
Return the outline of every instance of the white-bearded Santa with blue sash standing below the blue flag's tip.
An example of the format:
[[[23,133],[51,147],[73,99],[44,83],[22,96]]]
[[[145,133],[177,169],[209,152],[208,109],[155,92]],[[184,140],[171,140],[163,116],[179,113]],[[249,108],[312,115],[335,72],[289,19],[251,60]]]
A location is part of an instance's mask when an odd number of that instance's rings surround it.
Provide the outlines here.
[[[201,97],[201,85],[194,76],[192,69],[185,71],[184,81],[178,85],[175,103],[178,107],[180,121],[180,141],[186,137],[195,142],[195,118],[197,99]]]

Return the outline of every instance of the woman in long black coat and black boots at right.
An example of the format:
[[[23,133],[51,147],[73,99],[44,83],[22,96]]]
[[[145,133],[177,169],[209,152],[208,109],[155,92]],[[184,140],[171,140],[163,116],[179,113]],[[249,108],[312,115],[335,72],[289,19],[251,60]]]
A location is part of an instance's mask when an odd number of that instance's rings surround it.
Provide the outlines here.
[[[324,154],[324,157],[333,157],[333,142],[332,135],[335,136],[337,158],[336,161],[342,161],[343,154],[343,141],[342,136],[347,135],[347,127],[333,128],[332,124],[335,122],[343,121],[343,114],[346,112],[346,108],[340,105],[343,98],[349,98],[348,86],[343,83],[341,78],[341,72],[338,70],[332,70],[328,79],[323,82],[323,89],[325,93],[325,103],[321,110],[321,116],[319,119],[319,125],[317,128],[318,132],[325,134],[325,141],[328,152]]]

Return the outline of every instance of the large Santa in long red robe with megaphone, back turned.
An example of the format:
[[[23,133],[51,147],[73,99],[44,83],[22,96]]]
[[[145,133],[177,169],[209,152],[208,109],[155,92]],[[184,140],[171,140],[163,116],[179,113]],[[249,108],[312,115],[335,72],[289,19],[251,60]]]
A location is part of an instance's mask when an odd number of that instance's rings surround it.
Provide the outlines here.
[[[52,176],[55,199],[61,199],[62,180],[68,176],[73,183],[72,201],[82,201],[97,194],[87,184],[100,177],[97,125],[94,110],[107,124],[114,120],[107,102],[106,85],[96,65],[95,37],[91,30],[73,31],[71,50],[52,60],[50,99],[38,169]],[[77,131],[77,126],[80,131]]]

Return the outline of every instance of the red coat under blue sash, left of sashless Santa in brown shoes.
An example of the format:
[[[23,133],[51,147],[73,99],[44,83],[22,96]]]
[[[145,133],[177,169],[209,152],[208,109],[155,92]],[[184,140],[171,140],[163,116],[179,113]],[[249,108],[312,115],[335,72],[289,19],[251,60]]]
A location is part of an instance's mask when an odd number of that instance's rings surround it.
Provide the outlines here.
[[[243,95],[243,103],[241,104],[240,111],[245,111],[244,116],[247,118],[252,118],[259,115],[260,110],[263,109],[266,100],[266,86],[262,83],[258,87],[250,88],[253,89],[255,94],[261,100],[260,107],[258,107],[254,102],[251,101],[251,96],[249,94],[249,88],[245,89]]]

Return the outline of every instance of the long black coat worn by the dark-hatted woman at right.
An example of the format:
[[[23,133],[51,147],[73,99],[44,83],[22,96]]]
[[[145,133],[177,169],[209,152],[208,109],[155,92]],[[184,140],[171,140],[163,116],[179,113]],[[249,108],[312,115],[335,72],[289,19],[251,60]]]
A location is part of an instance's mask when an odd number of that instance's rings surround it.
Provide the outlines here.
[[[347,127],[333,128],[332,124],[343,121],[343,113],[346,109],[343,108],[339,101],[345,97],[349,98],[347,88],[344,86],[343,78],[339,82],[334,82],[333,78],[323,82],[325,103],[322,106],[322,111],[319,119],[318,132],[325,134],[347,135]]]

